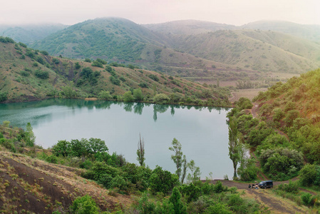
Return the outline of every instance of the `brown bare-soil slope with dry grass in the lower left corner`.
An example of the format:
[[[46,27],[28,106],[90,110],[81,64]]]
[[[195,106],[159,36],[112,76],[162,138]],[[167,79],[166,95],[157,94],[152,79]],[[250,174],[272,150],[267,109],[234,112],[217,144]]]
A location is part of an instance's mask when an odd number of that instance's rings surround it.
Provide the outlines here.
[[[81,178],[81,170],[0,151],[0,213],[52,213],[68,210],[72,201],[91,195],[101,210],[127,207],[128,195],[108,195],[97,183]]]

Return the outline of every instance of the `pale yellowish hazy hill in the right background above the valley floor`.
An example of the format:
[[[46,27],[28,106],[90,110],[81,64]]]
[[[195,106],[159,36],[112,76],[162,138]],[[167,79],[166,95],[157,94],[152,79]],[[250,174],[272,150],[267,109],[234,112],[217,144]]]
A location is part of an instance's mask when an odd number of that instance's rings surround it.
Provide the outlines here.
[[[319,66],[318,44],[272,31],[215,31],[172,36],[172,46],[189,54],[255,71],[299,73]]]

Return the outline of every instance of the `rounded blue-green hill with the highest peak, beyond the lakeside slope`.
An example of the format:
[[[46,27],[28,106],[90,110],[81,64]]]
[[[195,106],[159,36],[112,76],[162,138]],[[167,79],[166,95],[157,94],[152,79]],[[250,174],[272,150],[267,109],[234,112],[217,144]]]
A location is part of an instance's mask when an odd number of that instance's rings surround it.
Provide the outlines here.
[[[167,36],[155,34],[127,19],[106,18],[85,21],[31,44],[53,55],[72,58],[103,58],[138,63],[149,69],[211,68],[216,63],[165,47]],[[156,52],[158,51],[158,54]],[[164,68],[159,68],[164,66]]]

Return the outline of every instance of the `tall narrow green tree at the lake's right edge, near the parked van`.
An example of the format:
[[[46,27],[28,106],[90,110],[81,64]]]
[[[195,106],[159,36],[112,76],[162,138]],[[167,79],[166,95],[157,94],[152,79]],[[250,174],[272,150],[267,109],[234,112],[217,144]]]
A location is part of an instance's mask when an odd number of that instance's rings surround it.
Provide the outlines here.
[[[233,163],[234,174],[233,178],[237,178],[237,164],[239,162],[238,152],[238,136],[237,136],[237,120],[229,118],[229,158]]]

